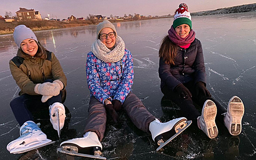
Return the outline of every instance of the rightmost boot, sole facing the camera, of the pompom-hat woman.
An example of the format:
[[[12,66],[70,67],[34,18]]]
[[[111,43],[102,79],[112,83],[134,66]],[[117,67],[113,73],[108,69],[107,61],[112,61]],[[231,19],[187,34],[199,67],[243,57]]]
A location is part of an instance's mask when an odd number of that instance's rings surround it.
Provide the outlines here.
[[[231,135],[235,136],[241,133],[244,112],[245,107],[242,100],[238,96],[233,96],[229,100],[227,113],[224,113],[224,124]]]

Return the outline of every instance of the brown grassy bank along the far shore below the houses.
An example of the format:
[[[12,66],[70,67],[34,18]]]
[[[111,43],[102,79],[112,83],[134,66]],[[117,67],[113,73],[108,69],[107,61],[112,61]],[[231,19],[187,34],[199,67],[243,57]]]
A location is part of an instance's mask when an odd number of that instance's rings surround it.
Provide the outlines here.
[[[160,17],[168,18],[168,17]],[[139,21],[139,20],[149,20],[156,18],[142,18],[142,19],[124,19],[124,20],[111,20],[111,22],[123,22],[123,21]],[[10,34],[13,33],[14,28],[18,25],[24,24],[27,27],[31,28],[32,31],[48,30],[48,29],[57,29],[57,28],[69,28],[69,27],[80,27],[87,26],[92,24],[98,24],[103,20],[93,20],[93,21],[13,21],[5,22],[0,21],[0,34]]]

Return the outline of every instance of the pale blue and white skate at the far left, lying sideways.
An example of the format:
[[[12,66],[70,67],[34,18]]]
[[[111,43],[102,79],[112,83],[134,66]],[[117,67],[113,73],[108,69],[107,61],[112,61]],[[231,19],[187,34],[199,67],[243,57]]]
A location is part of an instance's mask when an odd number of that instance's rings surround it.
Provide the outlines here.
[[[36,123],[27,121],[20,128],[20,137],[11,141],[6,148],[12,154],[20,154],[52,143],[54,141],[47,139]]]

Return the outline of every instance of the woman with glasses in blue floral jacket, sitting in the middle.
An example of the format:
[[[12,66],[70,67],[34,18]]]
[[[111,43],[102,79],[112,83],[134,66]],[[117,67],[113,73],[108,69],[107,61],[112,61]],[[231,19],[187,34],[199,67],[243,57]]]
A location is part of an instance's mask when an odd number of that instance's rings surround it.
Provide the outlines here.
[[[59,151],[70,154],[70,149],[78,149],[78,153],[85,153],[87,148],[97,147],[98,151],[95,152],[98,156],[101,155],[100,141],[105,132],[107,116],[118,123],[117,112],[121,109],[126,111],[136,127],[152,134],[152,139],[156,142],[160,139],[165,141],[188,127],[189,124],[184,117],[161,123],[131,92],[132,54],[125,48],[123,39],[117,36],[116,28],[111,22],[105,20],[99,23],[96,37],[91,52],[87,54],[86,62],[91,100],[84,137],[61,143],[62,148]],[[166,133],[170,130],[174,132]]]

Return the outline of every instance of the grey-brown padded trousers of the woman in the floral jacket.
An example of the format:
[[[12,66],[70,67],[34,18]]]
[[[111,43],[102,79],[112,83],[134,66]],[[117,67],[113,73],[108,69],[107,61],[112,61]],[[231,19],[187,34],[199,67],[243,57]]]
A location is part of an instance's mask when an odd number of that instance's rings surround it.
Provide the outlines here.
[[[154,121],[156,117],[144,107],[140,99],[135,94],[130,92],[126,96],[122,108],[137,128],[146,133],[150,133],[149,123]],[[88,131],[95,132],[101,141],[105,133],[107,122],[105,105],[95,97],[91,97],[88,112],[89,115],[86,121],[84,133]]]

